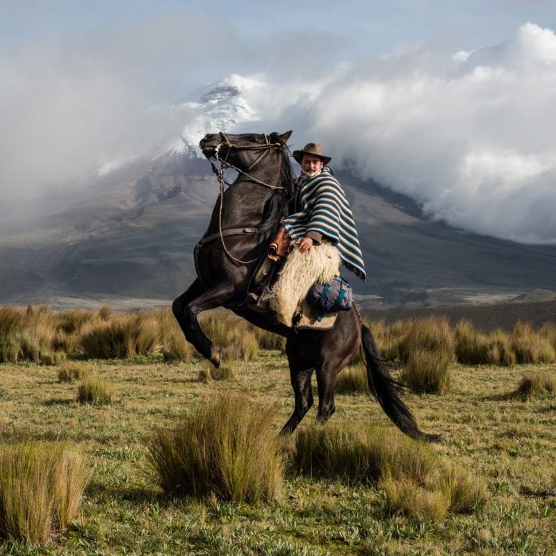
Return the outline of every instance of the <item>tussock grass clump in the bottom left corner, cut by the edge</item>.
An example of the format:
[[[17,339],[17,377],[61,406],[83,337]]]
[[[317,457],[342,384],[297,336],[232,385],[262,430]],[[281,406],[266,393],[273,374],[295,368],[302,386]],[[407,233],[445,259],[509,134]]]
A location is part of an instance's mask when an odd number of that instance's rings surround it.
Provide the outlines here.
[[[0,537],[31,544],[72,523],[89,481],[85,461],[65,443],[27,441],[0,451]]]

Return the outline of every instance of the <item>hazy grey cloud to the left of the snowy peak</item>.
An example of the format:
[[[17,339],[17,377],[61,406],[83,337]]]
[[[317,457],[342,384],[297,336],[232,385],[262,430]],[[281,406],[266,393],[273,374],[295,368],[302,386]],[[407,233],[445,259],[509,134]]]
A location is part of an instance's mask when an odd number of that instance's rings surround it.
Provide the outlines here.
[[[3,205],[82,181],[115,160],[152,154],[189,116],[186,107],[168,108],[176,90],[191,86],[192,74],[210,75],[203,68],[212,57],[225,66],[241,48],[222,24],[182,15],[3,49]],[[222,68],[213,63],[211,71]]]

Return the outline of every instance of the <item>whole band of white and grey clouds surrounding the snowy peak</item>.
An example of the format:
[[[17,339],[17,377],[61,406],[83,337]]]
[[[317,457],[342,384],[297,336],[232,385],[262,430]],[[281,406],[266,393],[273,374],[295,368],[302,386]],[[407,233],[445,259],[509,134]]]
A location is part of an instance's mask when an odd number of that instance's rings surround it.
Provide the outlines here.
[[[5,49],[4,210],[154,155],[184,129],[216,131],[202,129],[194,101],[236,73],[227,83],[248,114],[227,131],[293,129],[293,148],[322,143],[333,167],[410,195],[430,218],[556,244],[553,30],[524,24],[471,52],[437,40],[344,63],[327,57],[337,38],[319,40],[317,63],[310,33],[254,44],[223,22],[183,16]]]

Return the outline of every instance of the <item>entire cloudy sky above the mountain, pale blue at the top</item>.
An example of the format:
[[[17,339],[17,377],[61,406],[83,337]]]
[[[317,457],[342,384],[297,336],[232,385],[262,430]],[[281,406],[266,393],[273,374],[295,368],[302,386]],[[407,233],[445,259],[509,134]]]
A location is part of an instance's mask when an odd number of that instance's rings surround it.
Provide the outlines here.
[[[251,113],[231,133],[293,129],[430,218],[556,244],[551,0],[0,8],[0,218],[158,152],[224,80]]]

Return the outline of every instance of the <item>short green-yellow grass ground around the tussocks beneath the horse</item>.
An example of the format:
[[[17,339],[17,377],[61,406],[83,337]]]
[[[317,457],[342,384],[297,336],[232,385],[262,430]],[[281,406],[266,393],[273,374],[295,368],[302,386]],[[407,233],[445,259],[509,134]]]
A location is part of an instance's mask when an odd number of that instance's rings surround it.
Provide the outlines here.
[[[444,395],[406,394],[426,432],[443,434],[440,459],[488,485],[474,514],[443,521],[386,512],[375,484],[342,477],[288,476],[272,504],[163,496],[147,468],[146,442],[161,426],[224,391],[243,393],[253,411],[272,411],[278,432],[293,409],[284,355],[261,350],[252,361],[224,361],[229,378],[207,379],[204,361],[161,357],[85,361],[86,375],[113,391],[111,404],[77,401],[76,381],[56,366],[0,365],[1,443],[63,439],[92,469],[81,515],[56,543],[0,544],[10,555],[553,555],[556,553],[556,398],[514,395],[523,375],[554,376],[556,365],[461,366],[452,363]],[[199,380],[199,376],[202,380]],[[366,393],[337,393],[334,423],[389,427]],[[306,425],[316,409],[306,416]],[[305,422],[302,423],[302,426]],[[291,440],[293,441],[293,439]]]

